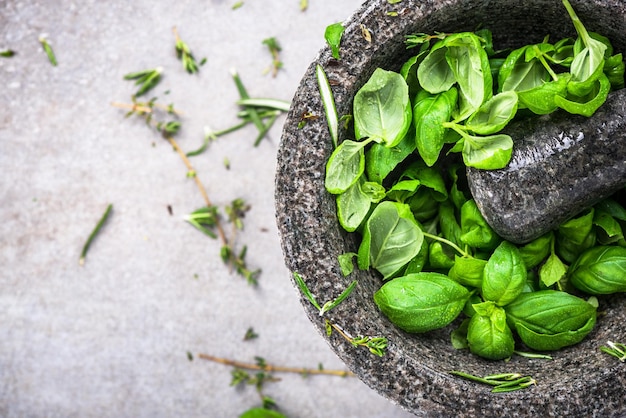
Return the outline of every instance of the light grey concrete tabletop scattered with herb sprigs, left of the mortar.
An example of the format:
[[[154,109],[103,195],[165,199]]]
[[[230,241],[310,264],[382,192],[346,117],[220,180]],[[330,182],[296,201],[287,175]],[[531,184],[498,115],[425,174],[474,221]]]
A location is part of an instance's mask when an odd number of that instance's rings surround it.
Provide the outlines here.
[[[203,202],[179,157],[111,106],[134,91],[124,74],[163,66],[155,93],[170,90],[167,102],[183,112],[178,141],[195,149],[204,126],[237,122],[230,68],[251,95],[291,99],[326,25],[360,0],[309,0],[306,12],[296,0],[234,3],[0,0],[0,49],[17,51],[0,58],[1,416],[236,417],[260,404],[253,388],[229,386],[230,367],[199,353],[344,368],[305,318],[283,264],[273,182],[284,119],[258,148],[249,128],[192,160],[215,204],[242,197],[252,206],[240,244],[263,269],[253,288],[222,264],[217,242],[182,220]],[[199,75],[176,59],[173,26],[207,57]],[[263,73],[270,36],[283,48],[276,78]],[[259,338],[242,341],[248,327]],[[355,378],[279,376],[265,392],[290,417],[409,416]]]

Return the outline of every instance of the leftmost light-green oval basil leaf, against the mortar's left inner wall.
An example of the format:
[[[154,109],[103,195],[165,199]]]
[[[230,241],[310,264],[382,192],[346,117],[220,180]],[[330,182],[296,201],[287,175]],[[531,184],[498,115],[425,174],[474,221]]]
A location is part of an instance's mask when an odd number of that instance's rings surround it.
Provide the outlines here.
[[[365,143],[343,141],[330,155],[326,163],[326,190],[341,194],[357,182],[365,170]]]

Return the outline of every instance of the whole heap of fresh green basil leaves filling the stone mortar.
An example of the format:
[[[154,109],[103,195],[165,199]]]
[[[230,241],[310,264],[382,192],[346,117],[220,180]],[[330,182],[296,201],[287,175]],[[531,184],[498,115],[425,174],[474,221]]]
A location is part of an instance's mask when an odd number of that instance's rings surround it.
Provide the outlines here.
[[[513,141],[499,132],[516,114],[591,116],[624,87],[622,55],[563,3],[575,40],[497,51],[488,30],[412,35],[419,53],[400,73],[377,69],[354,97],[357,140],[326,166],[340,224],[362,236],[340,261],[356,256],[382,275],[374,300],[407,332],[464,313],[457,348],[508,358],[515,331],[530,349],[557,350],[596,323],[597,298],[582,297],[626,292],[623,192],[516,246],[487,224],[464,177],[464,166],[507,165]]]

